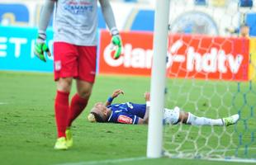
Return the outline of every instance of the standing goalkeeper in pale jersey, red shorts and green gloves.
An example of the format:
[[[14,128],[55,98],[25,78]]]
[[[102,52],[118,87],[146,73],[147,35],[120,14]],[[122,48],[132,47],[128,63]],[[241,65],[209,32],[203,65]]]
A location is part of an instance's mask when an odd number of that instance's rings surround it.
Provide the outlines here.
[[[56,82],[55,120],[58,138],[55,149],[67,149],[73,145],[70,127],[88,104],[96,73],[97,55],[97,2],[116,45],[117,59],[121,54],[121,38],[108,0],[45,0],[40,13],[36,56],[46,62],[50,51],[45,43],[46,28],[54,14],[54,72]],[[55,10],[54,10],[55,8]],[[77,93],[69,104],[73,78]]]

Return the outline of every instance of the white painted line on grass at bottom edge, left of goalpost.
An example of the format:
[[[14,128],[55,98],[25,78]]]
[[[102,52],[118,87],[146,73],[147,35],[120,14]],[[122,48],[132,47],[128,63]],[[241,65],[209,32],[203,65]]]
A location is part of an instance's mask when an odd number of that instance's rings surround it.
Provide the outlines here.
[[[119,158],[119,159],[107,159],[102,161],[88,161],[88,162],[78,162],[78,163],[59,163],[56,165],[93,165],[93,164],[107,164],[107,163],[124,163],[124,162],[133,162],[138,160],[145,160],[145,157],[139,158]]]

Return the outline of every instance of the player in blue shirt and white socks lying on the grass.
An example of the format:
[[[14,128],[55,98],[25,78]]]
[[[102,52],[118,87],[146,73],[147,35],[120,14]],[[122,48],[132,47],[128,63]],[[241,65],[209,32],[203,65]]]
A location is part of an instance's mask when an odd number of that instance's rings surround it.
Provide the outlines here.
[[[120,89],[113,92],[107,102],[97,102],[88,115],[91,122],[111,122],[123,124],[147,124],[149,120],[149,101],[150,94],[145,92],[146,104],[135,104],[126,102],[121,104],[111,104],[114,98],[123,94]],[[231,115],[222,119],[210,119],[206,117],[198,117],[191,112],[182,111],[178,106],[170,110],[164,109],[164,124],[176,125],[179,122],[186,125],[218,125],[228,126],[234,125],[239,120],[239,115]]]

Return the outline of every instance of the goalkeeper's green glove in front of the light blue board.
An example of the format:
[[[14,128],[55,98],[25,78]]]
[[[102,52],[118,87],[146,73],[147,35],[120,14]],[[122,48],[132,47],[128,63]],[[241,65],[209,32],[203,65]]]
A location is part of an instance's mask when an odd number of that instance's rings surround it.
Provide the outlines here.
[[[45,44],[45,39],[45,32],[39,31],[34,48],[34,53],[36,54],[36,56],[44,62],[46,62],[45,53],[47,53],[49,57],[51,56],[50,50]]]

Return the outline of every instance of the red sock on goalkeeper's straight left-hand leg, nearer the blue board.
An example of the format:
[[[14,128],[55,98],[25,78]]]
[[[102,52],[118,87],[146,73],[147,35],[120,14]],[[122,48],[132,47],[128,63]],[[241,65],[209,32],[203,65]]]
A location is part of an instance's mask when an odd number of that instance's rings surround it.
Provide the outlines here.
[[[58,131],[58,138],[66,137],[65,131],[67,128],[69,112],[69,92],[57,91],[55,97],[55,120]]]

